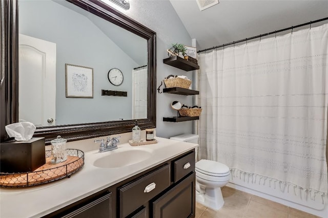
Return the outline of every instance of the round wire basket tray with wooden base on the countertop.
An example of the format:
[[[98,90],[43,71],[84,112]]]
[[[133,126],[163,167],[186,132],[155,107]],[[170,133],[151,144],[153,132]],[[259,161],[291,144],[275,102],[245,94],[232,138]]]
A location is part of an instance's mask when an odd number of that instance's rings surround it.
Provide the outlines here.
[[[65,177],[70,178],[84,165],[84,152],[77,149],[67,149],[67,160],[61,163],[51,163],[51,150],[46,151],[46,163],[33,172],[0,173],[0,187],[28,187],[53,182]],[[55,166],[55,167],[54,167]]]

